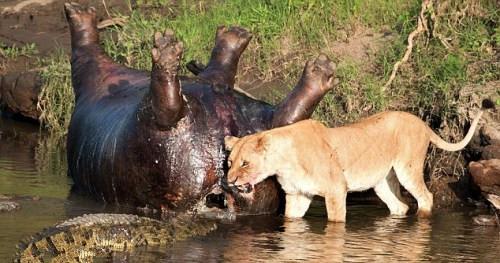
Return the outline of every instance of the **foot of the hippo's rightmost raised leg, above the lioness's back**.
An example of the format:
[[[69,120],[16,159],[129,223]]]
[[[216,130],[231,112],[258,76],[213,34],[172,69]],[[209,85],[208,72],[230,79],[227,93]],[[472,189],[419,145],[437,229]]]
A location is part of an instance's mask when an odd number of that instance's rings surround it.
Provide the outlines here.
[[[316,60],[307,62],[302,81],[304,85],[319,89],[322,93],[325,93],[338,83],[338,79],[334,78],[335,69],[335,63],[326,55],[321,54]]]

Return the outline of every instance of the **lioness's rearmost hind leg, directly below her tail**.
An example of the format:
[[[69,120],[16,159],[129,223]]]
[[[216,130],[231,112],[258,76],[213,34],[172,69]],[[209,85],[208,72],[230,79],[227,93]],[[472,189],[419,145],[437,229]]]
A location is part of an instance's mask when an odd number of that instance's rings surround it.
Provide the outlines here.
[[[425,155],[424,155],[425,158]],[[424,182],[424,160],[415,160],[405,165],[396,165],[394,170],[403,187],[417,199],[418,212],[421,217],[429,217],[432,211],[432,194]]]

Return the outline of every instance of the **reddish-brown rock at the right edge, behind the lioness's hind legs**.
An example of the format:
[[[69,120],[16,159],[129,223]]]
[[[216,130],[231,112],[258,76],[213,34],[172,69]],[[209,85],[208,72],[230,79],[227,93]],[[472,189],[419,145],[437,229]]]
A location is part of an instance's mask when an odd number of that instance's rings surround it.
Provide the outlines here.
[[[500,159],[471,162],[469,171],[483,196],[500,209]]]

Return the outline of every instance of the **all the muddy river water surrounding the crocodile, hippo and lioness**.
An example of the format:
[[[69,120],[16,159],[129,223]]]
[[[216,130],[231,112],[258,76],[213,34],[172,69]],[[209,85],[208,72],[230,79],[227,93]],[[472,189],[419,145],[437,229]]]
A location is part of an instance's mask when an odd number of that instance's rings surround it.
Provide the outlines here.
[[[0,120],[0,194],[15,195],[21,209],[0,213],[0,262],[15,245],[61,220],[104,211],[102,205],[69,195],[64,152],[34,125]],[[35,197],[35,198],[33,198]],[[222,222],[206,237],[170,248],[115,253],[116,262],[396,262],[481,261],[500,258],[497,228],[472,224],[476,211],[438,211],[429,220],[392,218],[379,205],[350,204],[346,224],[327,223],[315,201],[304,219],[242,217]],[[109,258],[103,261],[109,261]]]

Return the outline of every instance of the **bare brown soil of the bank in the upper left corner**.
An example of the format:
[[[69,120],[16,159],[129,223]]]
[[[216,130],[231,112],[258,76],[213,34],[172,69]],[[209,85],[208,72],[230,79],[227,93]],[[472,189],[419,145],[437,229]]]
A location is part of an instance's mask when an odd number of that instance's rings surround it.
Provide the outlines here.
[[[0,2],[0,43],[21,47],[35,43],[38,56],[46,56],[56,49],[70,51],[68,23],[64,16],[64,0],[15,0]],[[95,6],[99,20],[107,17],[103,1],[76,0],[82,5]],[[123,0],[107,0],[106,6],[113,11],[126,12],[128,6]],[[36,57],[19,57],[7,61],[0,57],[0,74],[31,69]]]

